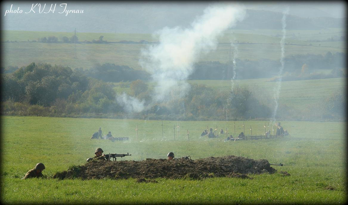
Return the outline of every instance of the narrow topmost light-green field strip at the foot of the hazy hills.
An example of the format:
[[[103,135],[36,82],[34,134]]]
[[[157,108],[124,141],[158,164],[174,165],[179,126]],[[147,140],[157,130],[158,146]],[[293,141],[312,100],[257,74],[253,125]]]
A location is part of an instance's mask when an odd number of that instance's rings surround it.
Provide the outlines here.
[[[2,41],[32,41],[38,38],[55,36],[59,41],[62,40],[63,36],[70,38],[73,34],[72,32],[46,32],[46,31],[1,31]],[[326,40],[332,36],[342,36],[345,30],[342,28],[326,28],[321,30],[286,30],[286,39],[289,43],[299,43],[306,44],[305,40]],[[115,42],[121,40],[147,40],[147,41],[157,41],[158,38],[153,37],[151,34],[140,34],[140,33],[78,33],[79,41],[92,41],[93,39],[98,40],[100,36],[104,36],[104,40]],[[255,36],[254,36],[255,35]],[[282,36],[282,30],[276,29],[230,29],[227,30],[223,37],[220,37],[221,43],[229,43],[231,39],[239,40],[242,42],[255,42],[259,40],[258,37],[262,38],[262,41],[267,41],[272,43],[270,39],[275,40],[279,43],[279,38],[276,35]],[[294,37],[295,36],[295,37]],[[228,37],[228,38],[227,38]],[[268,40],[267,40],[268,39]],[[308,45],[307,43],[306,45]]]

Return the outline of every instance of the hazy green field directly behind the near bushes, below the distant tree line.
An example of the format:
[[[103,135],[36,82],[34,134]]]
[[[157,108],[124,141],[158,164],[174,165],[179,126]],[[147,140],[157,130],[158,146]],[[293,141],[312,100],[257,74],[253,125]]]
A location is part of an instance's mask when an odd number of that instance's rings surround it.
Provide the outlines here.
[[[319,71],[318,71],[319,72]],[[327,71],[322,71],[327,72]],[[190,84],[204,84],[207,87],[211,87],[218,91],[229,91],[232,88],[231,81],[215,81],[215,80],[196,80],[187,81]],[[114,83],[116,85],[114,89],[118,94],[122,92],[130,93],[130,88],[120,88],[120,83]],[[153,89],[156,86],[155,82],[147,82],[149,89]],[[269,82],[268,78],[259,79],[245,79],[235,80],[234,85],[247,86],[250,90],[254,91],[255,96],[258,96],[261,100],[264,96],[269,99],[273,99],[274,87],[276,82]],[[345,78],[328,78],[328,79],[315,79],[315,80],[303,80],[303,81],[284,81],[281,84],[279,93],[279,104],[293,107],[299,111],[306,109],[307,106],[316,104],[319,101],[329,97],[333,91],[339,88],[345,88]]]

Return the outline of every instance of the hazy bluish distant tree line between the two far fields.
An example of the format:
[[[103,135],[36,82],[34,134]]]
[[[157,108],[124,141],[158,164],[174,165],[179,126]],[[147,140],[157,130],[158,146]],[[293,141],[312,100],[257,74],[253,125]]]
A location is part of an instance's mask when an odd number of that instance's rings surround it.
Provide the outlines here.
[[[102,39],[102,38],[101,38]],[[100,40],[101,40],[100,39]],[[342,52],[322,54],[298,54],[284,58],[283,79],[285,81],[303,79],[322,79],[334,77],[346,77],[346,55]],[[234,66],[236,65],[236,66]],[[221,63],[219,61],[200,61],[193,65],[193,73],[189,80],[229,80],[252,78],[272,78],[278,75],[281,64],[278,60],[259,59],[241,60]],[[305,69],[303,69],[305,67]],[[14,72],[18,67],[8,66],[1,68],[1,73]],[[330,74],[316,74],[314,70],[331,69]],[[135,70],[129,66],[120,66],[114,63],[95,64],[91,69],[76,68],[88,77],[101,79],[105,82],[122,82],[151,80],[151,74],[145,70]]]

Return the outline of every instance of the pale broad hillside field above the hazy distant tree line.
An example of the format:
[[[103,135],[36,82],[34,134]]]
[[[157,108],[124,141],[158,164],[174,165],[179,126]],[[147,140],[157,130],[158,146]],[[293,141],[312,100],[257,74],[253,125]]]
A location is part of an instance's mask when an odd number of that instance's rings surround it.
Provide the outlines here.
[[[280,31],[281,32],[281,31]],[[68,33],[62,32],[36,32],[36,31],[2,31],[2,41],[27,41],[29,42],[8,42],[1,44],[2,66],[27,66],[31,62],[47,62],[69,66],[71,68],[90,69],[95,63],[115,63],[127,65],[134,69],[141,69],[139,60],[142,58],[141,50],[147,48],[147,44],[75,44],[70,43],[39,43],[30,42],[33,39],[56,36],[61,40],[62,36]],[[79,41],[98,39],[103,35],[104,40],[147,40],[158,41],[156,36],[150,34],[113,34],[113,33],[79,33]],[[324,35],[324,34],[323,34]],[[70,33],[68,37],[71,37]],[[280,37],[272,37],[255,33],[225,33],[218,39],[219,44],[214,51],[203,51],[198,61],[220,61],[225,63],[231,60],[230,52],[237,47],[236,57],[239,59],[258,60],[261,58],[278,60],[280,59]],[[293,54],[322,54],[327,52],[346,52],[345,42],[322,42],[312,43],[296,39],[286,39],[284,49],[285,55]],[[332,45],[331,45],[332,43]],[[296,44],[296,45],[292,45]],[[327,47],[324,47],[327,46]]]

